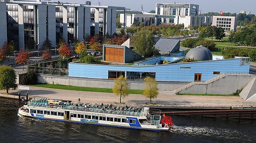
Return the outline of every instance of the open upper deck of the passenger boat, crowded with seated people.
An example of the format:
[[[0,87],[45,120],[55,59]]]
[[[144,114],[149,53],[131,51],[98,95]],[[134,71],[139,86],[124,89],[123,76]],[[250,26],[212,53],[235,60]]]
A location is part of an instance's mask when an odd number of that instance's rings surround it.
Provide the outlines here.
[[[146,117],[147,112],[144,107],[127,107],[114,104],[103,103],[68,103],[57,99],[30,100],[28,106],[42,107],[49,109],[64,109],[73,111],[87,111],[102,114],[125,115],[135,117]]]

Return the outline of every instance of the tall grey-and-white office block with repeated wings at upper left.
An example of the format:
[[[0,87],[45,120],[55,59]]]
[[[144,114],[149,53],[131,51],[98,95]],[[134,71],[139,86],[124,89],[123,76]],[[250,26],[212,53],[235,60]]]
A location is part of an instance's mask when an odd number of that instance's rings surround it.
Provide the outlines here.
[[[61,38],[69,43],[74,39],[82,41],[87,35],[112,35],[116,10],[125,10],[117,6],[45,1],[1,2],[0,7],[0,45],[13,40],[17,47],[25,49],[32,42],[40,49],[46,37],[54,46]]]

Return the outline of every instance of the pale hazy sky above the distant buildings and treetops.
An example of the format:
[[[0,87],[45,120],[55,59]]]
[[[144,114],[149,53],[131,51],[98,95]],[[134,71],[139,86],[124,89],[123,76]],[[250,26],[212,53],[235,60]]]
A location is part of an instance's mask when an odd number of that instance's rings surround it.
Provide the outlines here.
[[[57,1],[57,0],[53,0]],[[60,2],[85,4],[86,0],[59,0]],[[140,11],[143,5],[144,11],[155,10],[156,3],[188,3],[198,4],[199,12],[230,12],[240,13],[241,10],[251,11],[256,14],[256,0],[88,0],[92,5],[122,6],[134,11]]]

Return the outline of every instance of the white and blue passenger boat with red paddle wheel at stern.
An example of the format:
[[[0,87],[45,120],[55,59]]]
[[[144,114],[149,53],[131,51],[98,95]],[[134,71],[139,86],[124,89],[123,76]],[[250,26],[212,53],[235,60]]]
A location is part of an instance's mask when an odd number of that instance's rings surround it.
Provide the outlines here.
[[[19,108],[19,115],[52,121],[126,127],[129,129],[168,131],[170,116],[148,107],[127,107],[114,104],[70,103],[57,99],[32,99]]]

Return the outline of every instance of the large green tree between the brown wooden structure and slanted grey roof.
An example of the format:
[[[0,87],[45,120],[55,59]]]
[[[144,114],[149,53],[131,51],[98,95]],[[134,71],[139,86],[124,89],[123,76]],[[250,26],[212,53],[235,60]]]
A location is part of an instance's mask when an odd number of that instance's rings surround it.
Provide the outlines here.
[[[153,56],[155,39],[153,33],[148,29],[144,29],[135,33],[134,36],[134,51],[144,57]]]

